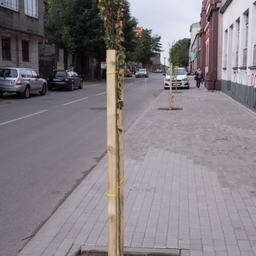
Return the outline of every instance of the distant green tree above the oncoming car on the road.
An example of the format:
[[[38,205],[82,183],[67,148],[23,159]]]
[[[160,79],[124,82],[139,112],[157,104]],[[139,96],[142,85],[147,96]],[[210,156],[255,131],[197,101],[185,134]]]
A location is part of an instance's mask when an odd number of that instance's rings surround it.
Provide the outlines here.
[[[143,64],[148,63],[151,57],[162,52],[160,40],[161,36],[152,35],[152,30],[142,30],[135,50],[135,59]]]

